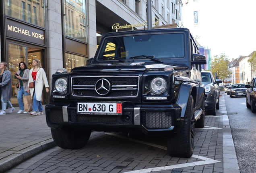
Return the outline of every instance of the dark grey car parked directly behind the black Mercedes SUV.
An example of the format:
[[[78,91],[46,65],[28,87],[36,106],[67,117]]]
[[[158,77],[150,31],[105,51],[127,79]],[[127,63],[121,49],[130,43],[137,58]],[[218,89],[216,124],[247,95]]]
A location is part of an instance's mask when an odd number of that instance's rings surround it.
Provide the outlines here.
[[[213,74],[209,71],[201,72],[202,84],[205,88],[204,106],[206,114],[216,115],[216,109],[219,109],[219,86],[221,79],[214,80]]]

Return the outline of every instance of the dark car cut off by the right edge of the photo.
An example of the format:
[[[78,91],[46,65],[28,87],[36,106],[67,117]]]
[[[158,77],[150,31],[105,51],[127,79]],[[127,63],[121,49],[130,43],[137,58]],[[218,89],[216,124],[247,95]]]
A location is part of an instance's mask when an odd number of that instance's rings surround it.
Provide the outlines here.
[[[256,76],[254,76],[250,82],[245,86],[246,89],[246,107],[251,108],[252,112],[256,112]]]

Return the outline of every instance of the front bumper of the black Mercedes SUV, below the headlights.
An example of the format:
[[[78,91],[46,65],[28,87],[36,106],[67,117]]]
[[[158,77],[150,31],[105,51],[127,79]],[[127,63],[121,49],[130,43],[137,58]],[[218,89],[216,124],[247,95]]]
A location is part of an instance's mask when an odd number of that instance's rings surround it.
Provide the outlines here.
[[[180,131],[184,119],[178,105],[124,106],[122,115],[81,115],[76,105],[45,106],[46,122],[51,128],[77,126],[105,132],[142,131],[148,135],[167,135]]]

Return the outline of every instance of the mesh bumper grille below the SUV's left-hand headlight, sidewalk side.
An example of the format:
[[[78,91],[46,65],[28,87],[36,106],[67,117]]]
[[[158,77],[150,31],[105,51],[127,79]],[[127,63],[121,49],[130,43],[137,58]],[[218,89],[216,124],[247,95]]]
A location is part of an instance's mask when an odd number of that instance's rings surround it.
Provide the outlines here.
[[[45,108],[46,119],[49,123],[60,124],[63,122],[62,109]]]

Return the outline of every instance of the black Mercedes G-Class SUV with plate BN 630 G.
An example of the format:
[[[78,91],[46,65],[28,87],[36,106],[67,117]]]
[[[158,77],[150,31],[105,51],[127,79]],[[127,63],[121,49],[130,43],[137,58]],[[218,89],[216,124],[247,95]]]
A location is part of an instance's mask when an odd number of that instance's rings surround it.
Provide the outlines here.
[[[104,34],[94,58],[52,76],[47,125],[59,147],[78,149],[91,131],[165,135],[167,151],[191,157],[204,127],[201,65],[187,28]]]

